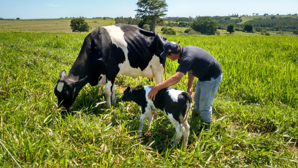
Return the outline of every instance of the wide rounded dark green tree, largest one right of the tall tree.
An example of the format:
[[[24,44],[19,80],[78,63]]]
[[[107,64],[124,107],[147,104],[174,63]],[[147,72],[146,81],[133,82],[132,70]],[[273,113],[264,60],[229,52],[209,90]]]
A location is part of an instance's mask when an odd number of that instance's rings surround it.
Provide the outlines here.
[[[212,20],[210,16],[203,16],[195,19],[191,28],[202,34],[215,35],[218,28],[216,25],[216,21]]]

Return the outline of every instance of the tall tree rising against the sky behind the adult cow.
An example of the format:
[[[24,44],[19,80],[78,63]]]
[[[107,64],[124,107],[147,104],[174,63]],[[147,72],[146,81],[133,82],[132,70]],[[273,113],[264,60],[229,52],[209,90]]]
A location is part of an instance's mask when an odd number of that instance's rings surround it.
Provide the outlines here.
[[[155,31],[155,25],[162,21],[160,17],[165,16],[167,4],[165,0],[138,0],[138,9],[136,16],[141,17],[144,22],[148,22],[151,30]]]

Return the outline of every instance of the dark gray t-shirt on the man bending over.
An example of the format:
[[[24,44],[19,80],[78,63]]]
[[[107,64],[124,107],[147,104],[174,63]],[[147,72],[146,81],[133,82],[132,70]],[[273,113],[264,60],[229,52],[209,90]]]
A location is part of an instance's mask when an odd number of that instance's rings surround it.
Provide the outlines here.
[[[176,72],[187,72],[197,77],[200,81],[216,79],[222,73],[219,62],[206,50],[200,47],[185,46],[181,48],[179,66]]]

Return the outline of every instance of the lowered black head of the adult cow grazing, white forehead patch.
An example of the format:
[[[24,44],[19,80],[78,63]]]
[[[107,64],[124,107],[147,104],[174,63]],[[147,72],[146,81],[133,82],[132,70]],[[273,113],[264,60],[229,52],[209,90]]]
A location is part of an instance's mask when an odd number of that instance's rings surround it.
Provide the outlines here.
[[[77,94],[86,84],[86,79],[87,77],[78,81],[72,81],[67,79],[66,71],[62,71],[54,90],[54,93],[58,98],[58,107],[65,107],[66,110],[69,110],[74,103]]]

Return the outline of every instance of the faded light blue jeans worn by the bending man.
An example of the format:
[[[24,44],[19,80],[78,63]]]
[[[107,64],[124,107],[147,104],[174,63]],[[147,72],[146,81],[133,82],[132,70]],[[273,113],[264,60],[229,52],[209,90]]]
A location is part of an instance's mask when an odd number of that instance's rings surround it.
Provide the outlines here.
[[[196,84],[196,92],[194,95],[195,108],[194,112],[201,114],[201,120],[204,122],[211,122],[212,120],[212,102],[215,94],[222,83],[223,74],[218,78],[211,78],[211,81],[200,81]]]

